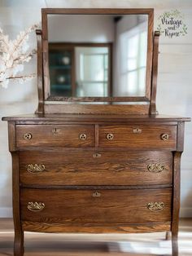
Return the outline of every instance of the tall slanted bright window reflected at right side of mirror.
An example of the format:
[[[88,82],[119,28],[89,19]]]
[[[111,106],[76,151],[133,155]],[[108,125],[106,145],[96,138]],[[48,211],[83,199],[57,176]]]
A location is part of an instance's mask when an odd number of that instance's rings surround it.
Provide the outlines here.
[[[122,33],[120,36],[120,82],[124,95],[144,96],[146,90],[146,23]]]

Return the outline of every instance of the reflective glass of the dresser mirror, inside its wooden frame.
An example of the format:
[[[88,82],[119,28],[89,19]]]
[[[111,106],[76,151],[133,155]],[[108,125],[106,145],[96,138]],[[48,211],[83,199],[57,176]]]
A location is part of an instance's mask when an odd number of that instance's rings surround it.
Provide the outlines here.
[[[48,15],[50,95],[146,94],[148,15]]]

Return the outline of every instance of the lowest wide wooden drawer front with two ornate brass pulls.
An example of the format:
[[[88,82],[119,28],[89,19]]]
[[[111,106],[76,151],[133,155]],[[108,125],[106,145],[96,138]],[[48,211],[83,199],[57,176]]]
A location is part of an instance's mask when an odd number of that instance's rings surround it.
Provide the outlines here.
[[[155,223],[171,220],[171,189],[21,189],[21,218],[43,223]]]

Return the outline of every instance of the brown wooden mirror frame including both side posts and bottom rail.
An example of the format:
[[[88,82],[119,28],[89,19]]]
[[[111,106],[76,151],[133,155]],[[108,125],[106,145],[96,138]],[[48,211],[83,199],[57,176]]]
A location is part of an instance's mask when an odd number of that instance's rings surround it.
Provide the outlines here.
[[[47,15],[148,15],[148,34],[147,34],[147,56],[146,56],[146,95],[132,97],[50,97],[50,74],[49,74],[49,47],[48,47],[48,29]],[[156,88],[153,90],[155,83],[155,71],[157,73],[157,57],[154,56],[153,26],[154,26],[154,9],[63,9],[63,8],[43,8],[41,9],[42,32],[37,31],[37,52],[38,52],[38,92],[39,107],[37,113],[156,113],[155,95]],[[159,38],[159,36],[158,36]],[[157,49],[158,51],[158,46]],[[41,59],[41,60],[40,60]],[[156,70],[153,70],[154,59],[156,60]],[[42,78],[41,78],[42,75]],[[153,81],[154,80],[154,81]],[[39,84],[40,82],[40,84]],[[42,91],[41,91],[42,89]],[[50,98],[49,98],[50,97]],[[50,101],[51,100],[51,101]],[[86,104],[78,104],[86,102]],[[89,102],[108,104],[89,104]],[[121,102],[129,104],[110,104],[111,102]],[[140,102],[136,104],[136,102]],[[67,104],[66,104],[67,103]],[[70,103],[70,104],[68,104]],[[87,104],[88,103],[88,104]],[[143,103],[143,104],[142,104]]]

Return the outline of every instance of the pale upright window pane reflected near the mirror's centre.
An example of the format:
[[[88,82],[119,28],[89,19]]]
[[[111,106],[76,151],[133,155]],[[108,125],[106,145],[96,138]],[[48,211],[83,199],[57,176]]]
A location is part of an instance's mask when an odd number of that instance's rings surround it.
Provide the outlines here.
[[[108,48],[76,47],[76,96],[108,95]]]

